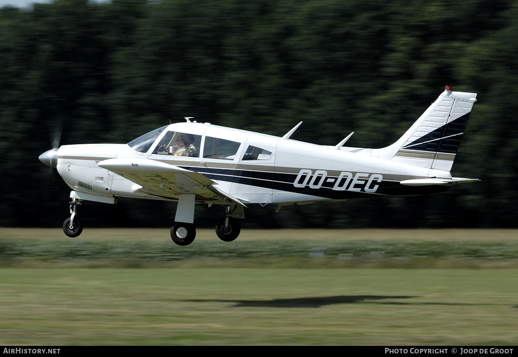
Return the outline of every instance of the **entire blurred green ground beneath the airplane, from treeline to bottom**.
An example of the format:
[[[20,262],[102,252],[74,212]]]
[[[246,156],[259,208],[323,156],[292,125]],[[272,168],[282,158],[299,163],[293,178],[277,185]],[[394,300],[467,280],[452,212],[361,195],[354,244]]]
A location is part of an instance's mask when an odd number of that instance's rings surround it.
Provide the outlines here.
[[[1,228],[0,345],[516,345],[517,232]]]

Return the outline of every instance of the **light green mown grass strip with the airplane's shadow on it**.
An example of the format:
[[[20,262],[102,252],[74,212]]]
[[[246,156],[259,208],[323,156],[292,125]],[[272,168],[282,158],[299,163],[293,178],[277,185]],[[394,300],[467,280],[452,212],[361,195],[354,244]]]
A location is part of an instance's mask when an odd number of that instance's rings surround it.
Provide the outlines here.
[[[516,269],[0,269],[0,345],[516,345]]]

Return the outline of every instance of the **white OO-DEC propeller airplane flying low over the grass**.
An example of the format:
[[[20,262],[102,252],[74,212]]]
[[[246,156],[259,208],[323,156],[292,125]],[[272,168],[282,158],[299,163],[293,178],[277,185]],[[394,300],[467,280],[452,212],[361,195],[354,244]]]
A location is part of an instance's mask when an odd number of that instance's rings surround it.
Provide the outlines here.
[[[57,168],[70,193],[69,237],[81,234],[82,201],[117,203],[118,197],[178,201],[171,238],[188,245],[196,236],[195,203],[223,205],[216,225],[223,241],[240,232],[250,204],[307,204],[442,193],[453,184],[479,181],[450,170],[476,93],[450,86],[394,144],[367,149],[322,146],[282,137],[198,123],[153,130],[128,144],[64,145],[39,160]]]

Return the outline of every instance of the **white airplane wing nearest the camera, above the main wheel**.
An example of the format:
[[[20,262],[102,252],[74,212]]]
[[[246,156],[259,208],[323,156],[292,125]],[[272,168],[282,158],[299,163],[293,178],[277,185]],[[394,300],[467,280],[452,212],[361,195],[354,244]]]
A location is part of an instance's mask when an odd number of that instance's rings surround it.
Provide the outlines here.
[[[136,183],[135,190],[154,196],[178,200],[181,194],[195,194],[196,202],[244,204],[215,187],[214,181],[196,171],[182,169],[165,162],[117,158],[103,160],[99,167],[115,172]]]

